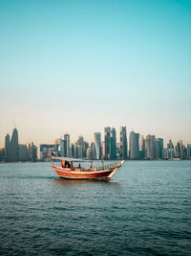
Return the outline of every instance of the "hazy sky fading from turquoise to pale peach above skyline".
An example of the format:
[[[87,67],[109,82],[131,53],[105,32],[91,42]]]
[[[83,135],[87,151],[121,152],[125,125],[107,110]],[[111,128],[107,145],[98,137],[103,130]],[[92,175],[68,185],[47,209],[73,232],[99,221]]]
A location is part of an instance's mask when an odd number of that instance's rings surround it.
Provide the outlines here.
[[[0,0],[0,147],[106,126],[191,142],[191,1]]]

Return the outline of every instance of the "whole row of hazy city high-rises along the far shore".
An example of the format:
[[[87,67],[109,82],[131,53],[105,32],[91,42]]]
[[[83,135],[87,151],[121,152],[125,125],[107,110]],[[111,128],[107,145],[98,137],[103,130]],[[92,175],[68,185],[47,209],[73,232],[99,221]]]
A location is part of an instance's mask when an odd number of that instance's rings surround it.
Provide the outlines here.
[[[48,160],[50,155],[96,160],[191,159],[191,143],[184,145],[182,140],[179,140],[174,144],[169,139],[165,147],[163,138],[154,134],[147,134],[144,138],[135,131],[129,133],[128,140],[126,127],[119,128],[119,141],[117,141],[117,129],[106,127],[103,138],[100,132],[95,132],[91,143],[87,142],[83,135],[79,135],[73,143],[70,134],[66,133],[54,139],[52,144],[40,144],[37,152],[33,142],[19,143],[18,130],[14,128],[11,136],[9,133],[5,136],[5,148],[0,149],[0,161],[36,161],[37,158],[44,161]]]

